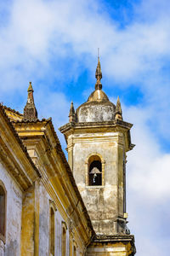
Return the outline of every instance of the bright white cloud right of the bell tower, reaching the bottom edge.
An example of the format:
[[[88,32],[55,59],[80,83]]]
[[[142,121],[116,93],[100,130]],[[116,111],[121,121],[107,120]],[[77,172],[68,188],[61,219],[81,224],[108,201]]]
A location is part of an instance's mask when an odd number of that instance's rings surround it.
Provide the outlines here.
[[[147,108],[122,106],[124,119],[134,123],[136,146],[127,153],[127,212],[137,255],[168,256],[170,154],[163,154],[148,125]]]

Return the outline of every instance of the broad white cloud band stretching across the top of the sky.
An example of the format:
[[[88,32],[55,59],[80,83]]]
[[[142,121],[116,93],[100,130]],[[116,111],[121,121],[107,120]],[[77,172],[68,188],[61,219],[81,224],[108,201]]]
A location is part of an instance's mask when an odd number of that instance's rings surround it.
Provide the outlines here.
[[[120,30],[117,22],[99,13],[97,1],[90,4],[14,1],[8,26],[1,30],[0,64],[5,59],[6,65],[21,65],[31,73],[38,68],[35,62],[46,66],[54,55],[67,55],[69,46],[69,54],[83,62],[83,53],[94,57],[100,47],[105,73],[119,80],[138,80],[139,74],[160,68],[157,59],[170,52],[168,16],[150,24],[135,21]]]

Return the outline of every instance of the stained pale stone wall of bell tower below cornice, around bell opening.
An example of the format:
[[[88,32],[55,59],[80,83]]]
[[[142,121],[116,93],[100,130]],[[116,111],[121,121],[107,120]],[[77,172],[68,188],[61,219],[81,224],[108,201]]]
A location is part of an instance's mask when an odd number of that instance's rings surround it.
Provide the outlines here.
[[[68,140],[68,148],[73,175],[94,230],[98,234],[117,233],[117,217],[123,218],[122,133],[75,133]],[[88,158],[93,154],[99,155],[103,162],[102,186],[88,186]]]

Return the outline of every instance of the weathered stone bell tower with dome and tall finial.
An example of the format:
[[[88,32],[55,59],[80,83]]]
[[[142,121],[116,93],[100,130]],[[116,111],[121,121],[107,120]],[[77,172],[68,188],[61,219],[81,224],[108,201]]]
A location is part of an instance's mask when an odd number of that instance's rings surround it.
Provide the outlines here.
[[[102,90],[100,62],[95,90],[75,112],[71,102],[65,135],[68,161],[97,235],[128,235],[126,154],[133,148],[131,124]]]

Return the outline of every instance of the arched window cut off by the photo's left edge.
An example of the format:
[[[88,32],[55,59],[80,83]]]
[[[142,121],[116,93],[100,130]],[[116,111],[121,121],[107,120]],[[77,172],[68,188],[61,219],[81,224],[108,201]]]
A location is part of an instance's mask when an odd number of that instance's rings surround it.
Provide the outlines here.
[[[6,230],[6,189],[0,181],[0,239],[5,240]]]

